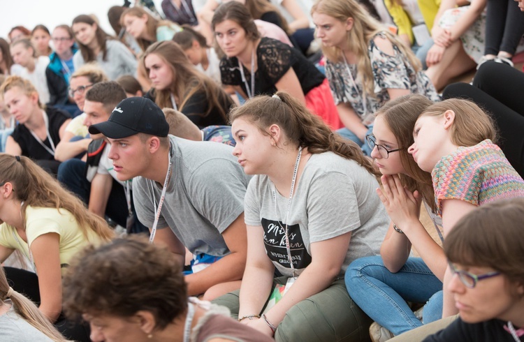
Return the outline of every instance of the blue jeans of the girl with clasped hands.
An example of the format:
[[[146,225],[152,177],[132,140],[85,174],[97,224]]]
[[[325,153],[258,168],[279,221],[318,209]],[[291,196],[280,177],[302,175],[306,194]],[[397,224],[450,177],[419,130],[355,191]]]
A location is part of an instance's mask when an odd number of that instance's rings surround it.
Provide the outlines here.
[[[408,258],[397,273],[384,266],[380,255],[351,262],[346,271],[351,299],[395,336],[423,323],[406,302],[426,303],[423,322],[442,318],[442,282],[421,258]]]

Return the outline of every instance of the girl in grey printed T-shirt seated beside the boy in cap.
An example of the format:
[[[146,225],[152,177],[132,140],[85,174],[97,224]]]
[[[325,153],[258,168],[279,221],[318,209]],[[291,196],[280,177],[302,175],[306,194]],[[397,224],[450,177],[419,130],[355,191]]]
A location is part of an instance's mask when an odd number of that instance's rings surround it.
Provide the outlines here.
[[[240,294],[216,302],[276,341],[365,339],[370,321],[342,277],[349,262],[378,253],[386,232],[376,170],[356,144],[284,92],[247,101],[231,121],[233,154],[255,176],[245,198]],[[275,269],[283,277],[274,279]],[[271,294],[276,304],[266,306]]]

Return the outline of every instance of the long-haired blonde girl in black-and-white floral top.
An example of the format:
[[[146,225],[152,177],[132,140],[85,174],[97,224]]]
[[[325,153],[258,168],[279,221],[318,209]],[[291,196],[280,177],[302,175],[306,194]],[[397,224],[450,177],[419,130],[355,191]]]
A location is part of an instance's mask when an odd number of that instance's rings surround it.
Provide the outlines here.
[[[413,52],[354,0],[317,0],[312,7],[328,77],[345,128],[365,144],[373,115],[390,99],[422,94],[439,101]]]

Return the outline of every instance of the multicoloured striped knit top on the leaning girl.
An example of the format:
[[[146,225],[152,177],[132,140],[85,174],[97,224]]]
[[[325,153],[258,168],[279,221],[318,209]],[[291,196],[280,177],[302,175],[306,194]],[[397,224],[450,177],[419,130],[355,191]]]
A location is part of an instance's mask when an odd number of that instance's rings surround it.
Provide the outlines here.
[[[524,180],[489,139],[442,157],[431,177],[440,216],[443,200],[458,199],[479,206],[504,198],[524,198]]]

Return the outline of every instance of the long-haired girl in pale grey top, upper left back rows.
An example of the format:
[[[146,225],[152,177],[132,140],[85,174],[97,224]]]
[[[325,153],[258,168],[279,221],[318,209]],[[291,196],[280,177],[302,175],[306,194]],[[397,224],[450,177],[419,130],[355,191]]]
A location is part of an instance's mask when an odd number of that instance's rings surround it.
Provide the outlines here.
[[[73,56],[75,68],[95,62],[110,80],[136,75],[137,61],[131,51],[109,36],[89,15],[78,15],[71,25],[80,51]]]

